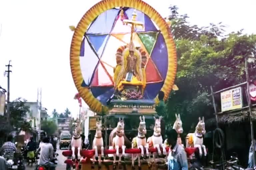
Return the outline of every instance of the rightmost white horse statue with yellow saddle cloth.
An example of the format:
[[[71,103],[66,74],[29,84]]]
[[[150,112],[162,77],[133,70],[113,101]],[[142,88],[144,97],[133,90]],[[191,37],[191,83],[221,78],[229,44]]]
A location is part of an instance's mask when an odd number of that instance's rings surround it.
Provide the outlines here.
[[[205,124],[204,124],[204,117],[199,117],[199,122],[196,126],[196,130],[194,133],[188,133],[186,136],[186,147],[197,147],[199,149],[199,154],[202,156],[202,148],[204,150],[204,156],[206,156],[206,147],[203,144],[204,138],[203,135],[206,133],[205,131]]]

